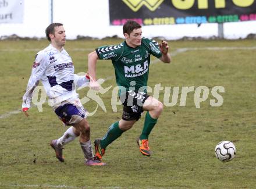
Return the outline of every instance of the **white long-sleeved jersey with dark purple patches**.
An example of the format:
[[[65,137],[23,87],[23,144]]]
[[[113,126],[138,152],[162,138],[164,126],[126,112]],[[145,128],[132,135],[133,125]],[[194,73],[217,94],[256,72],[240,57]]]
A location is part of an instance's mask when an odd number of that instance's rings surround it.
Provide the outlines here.
[[[49,105],[54,108],[77,99],[76,86],[88,85],[90,82],[86,76],[74,74],[72,59],[64,48],[59,52],[51,44],[35,56],[22,108],[30,108],[34,88],[40,80],[49,98]]]

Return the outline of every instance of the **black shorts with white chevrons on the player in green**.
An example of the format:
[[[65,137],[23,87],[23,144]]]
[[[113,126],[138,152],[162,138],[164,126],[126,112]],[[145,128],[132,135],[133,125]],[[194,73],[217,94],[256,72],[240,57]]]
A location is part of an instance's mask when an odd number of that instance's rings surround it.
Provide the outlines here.
[[[144,92],[127,91],[126,94],[120,96],[123,104],[122,119],[126,121],[139,120],[143,112],[143,104],[150,95]]]

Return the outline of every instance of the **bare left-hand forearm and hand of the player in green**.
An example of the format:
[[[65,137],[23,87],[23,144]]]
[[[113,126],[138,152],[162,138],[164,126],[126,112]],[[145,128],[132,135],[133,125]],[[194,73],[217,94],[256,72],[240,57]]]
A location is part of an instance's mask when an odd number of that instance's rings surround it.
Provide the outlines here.
[[[90,87],[93,90],[99,90],[99,84],[96,78],[97,60],[98,60],[98,55],[96,51],[93,51],[88,55],[88,74],[90,76]]]

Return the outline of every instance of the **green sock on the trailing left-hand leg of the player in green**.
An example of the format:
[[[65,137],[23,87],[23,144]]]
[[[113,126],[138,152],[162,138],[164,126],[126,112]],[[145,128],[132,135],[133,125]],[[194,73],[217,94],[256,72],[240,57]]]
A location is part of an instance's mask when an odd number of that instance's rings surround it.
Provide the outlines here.
[[[118,123],[119,122],[115,122],[108,128],[105,136],[101,139],[101,148],[105,149],[111,142],[122,135],[124,131],[120,130]]]

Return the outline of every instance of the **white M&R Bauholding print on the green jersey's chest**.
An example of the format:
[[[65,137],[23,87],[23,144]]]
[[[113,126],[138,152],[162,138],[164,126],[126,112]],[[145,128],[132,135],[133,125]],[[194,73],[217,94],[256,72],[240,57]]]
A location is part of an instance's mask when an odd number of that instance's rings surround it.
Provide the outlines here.
[[[125,77],[138,77],[148,72],[148,60],[135,66],[124,66]]]

